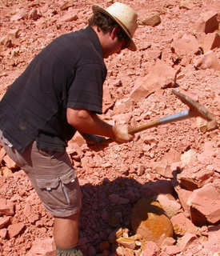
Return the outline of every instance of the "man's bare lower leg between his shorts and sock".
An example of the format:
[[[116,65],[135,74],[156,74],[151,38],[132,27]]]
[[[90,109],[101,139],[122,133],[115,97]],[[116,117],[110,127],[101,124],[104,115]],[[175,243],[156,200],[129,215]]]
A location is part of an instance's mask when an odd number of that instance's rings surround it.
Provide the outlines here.
[[[54,219],[54,242],[57,247],[68,248],[78,244],[78,213]]]

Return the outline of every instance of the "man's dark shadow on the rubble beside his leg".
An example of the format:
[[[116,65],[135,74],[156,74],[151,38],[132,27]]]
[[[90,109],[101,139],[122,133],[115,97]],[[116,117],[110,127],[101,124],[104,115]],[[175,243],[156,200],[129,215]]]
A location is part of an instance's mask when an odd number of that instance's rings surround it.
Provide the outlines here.
[[[154,190],[149,189],[151,186],[154,186]],[[158,194],[176,196],[171,182],[166,180],[141,184],[134,178],[118,177],[113,181],[104,178],[102,184],[96,186],[86,183],[82,186],[79,238],[85,239],[86,246],[98,249],[100,244],[109,241],[111,234],[121,228],[127,229],[129,236],[133,235],[131,214],[134,206],[140,198],[148,198],[153,202],[151,198],[156,198]],[[156,206],[154,210],[155,214],[164,214]]]

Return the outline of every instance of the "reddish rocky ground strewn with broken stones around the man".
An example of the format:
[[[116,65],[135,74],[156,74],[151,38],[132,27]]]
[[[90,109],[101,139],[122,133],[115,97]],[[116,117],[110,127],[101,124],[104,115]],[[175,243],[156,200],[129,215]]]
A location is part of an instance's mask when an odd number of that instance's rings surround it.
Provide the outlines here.
[[[220,255],[220,2],[120,2],[139,15],[138,51],[106,60],[102,118],[134,127],[187,110],[175,87],[214,121],[152,127],[98,153],[75,136],[79,246],[87,256]],[[0,95],[54,38],[85,27],[94,3],[113,1],[0,0]],[[3,149],[0,160],[0,255],[54,255],[53,217]]]

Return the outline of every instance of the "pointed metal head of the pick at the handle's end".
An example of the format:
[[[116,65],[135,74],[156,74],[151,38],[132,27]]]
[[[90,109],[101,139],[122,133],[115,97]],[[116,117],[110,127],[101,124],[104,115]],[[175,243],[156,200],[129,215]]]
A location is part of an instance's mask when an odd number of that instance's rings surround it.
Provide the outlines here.
[[[205,106],[195,102],[192,98],[186,96],[185,94],[181,94],[177,90],[172,90],[172,93],[178,96],[183,103],[190,107],[190,114],[192,114],[192,116],[201,117],[207,121],[212,121],[214,119],[212,114],[206,110]]]

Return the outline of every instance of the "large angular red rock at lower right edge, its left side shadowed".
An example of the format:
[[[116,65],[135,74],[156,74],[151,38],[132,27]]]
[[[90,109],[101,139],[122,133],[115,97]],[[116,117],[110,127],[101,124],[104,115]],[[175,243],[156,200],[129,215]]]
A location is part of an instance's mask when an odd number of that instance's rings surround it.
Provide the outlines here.
[[[188,199],[187,205],[191,208],[191,218],[195,225],[199,224],[201,226],[206,224],[206,221],[210,223],[218,222],[220,220],[219,180],[194,190]]]

